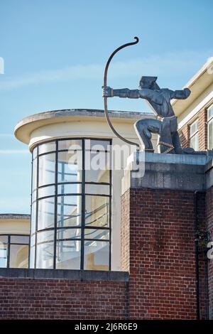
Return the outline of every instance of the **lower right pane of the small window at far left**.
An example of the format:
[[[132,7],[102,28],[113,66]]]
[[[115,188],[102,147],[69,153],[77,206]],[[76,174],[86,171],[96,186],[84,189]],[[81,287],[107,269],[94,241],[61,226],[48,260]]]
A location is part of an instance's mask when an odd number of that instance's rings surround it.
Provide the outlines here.
[[[28,268],[28,245],[11,244],[10,268]]]

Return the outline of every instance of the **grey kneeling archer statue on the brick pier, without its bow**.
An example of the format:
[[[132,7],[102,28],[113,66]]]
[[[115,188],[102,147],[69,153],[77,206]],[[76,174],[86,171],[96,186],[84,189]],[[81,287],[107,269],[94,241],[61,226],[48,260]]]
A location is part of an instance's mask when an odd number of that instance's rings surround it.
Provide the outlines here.
[[[156,83],[158,77],[141,77],[138,90],[128,88],[114,90],[103,87],[103,97],[129,97],[130,99],[146,99],[158,119],[139,119],[134,127],[145,151],[153,152],[152,134],[158,134],[160,153],[192,153],[194,149],[182,149],[178,134],[178,122],[170,103],[171,99],[187,99],[190,90],[169,90],[160,88]]]

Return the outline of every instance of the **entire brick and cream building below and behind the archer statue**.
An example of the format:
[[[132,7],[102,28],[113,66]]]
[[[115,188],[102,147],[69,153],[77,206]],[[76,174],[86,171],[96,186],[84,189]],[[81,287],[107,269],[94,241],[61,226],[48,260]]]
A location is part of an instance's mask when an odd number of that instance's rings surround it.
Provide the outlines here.
[[[182,146],[200,154],[157,154],[155,136],[155,153],[138,152],[102,110],[17,124],[32,154],[31,227],[27,215],[0,217],[1,318],[213,318],[211,68],[173,101]],[[110,116],[136,144],[133,124],[154,117]]]

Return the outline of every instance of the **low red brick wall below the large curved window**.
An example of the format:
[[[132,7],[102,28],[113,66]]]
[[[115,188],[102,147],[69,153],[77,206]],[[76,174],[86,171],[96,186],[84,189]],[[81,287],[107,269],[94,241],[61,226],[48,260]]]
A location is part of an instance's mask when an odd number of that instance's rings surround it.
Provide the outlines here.
[[[123,281],[0,278],[1,319],[125,319]]]

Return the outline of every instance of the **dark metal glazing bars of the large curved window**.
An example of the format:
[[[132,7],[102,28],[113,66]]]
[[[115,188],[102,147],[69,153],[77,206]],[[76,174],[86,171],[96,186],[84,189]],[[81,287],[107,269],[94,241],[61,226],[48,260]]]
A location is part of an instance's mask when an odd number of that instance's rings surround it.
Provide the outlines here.
[[[99,152],[99,151],[102,151],[104,153],[109,153],[109,183],[106,183],[106,182],[102,182],[102,183],[98,183],[98,182],[89,182],[89,181],[85,181],[85,141],[86,140],[91,140],[91,141],[108,141],[109,142],[109,146],[110,146],[110,150],[92,150],[92,149],[89,149],[89,151],[92,151],[92,152]],[[75,140],[79,140],[81,141],[81,144],[82,144],[82,149],[81,150],[75,150],[75,151],[81,151],[82,152],[82,180],[81,182],[59,182],[58,183],[58,153],[60,152],[68,152],[70,151],[69,149],[58,149],[58,144],[60,141],[75,141]],[[48,144],[48,143],[55,143],[55,151],[47,151],[47,152],[44,152],[44,153],[39,153],[39,146],[40,145],[43,145],[43,144]],[[50,141],[45,141],[43,143],[40,143],[36,146],[34,146],[33,148],[33,151],[32,151],[32,176],[31,176],[31,212],[32,212],[32,205],[33,203],[35,203],[35,232],[32,234],[31,233],[31,237],[33,235],[35,235],[35,244],[34,244],[34,247],[35,247],[35,254],[34,254],[34,259],[33,259],[33,268],[37,268],[37,247],[38,247],[38,242],[37,242],[37,235],[38,233],[40,232],[44,232],[44,231],[48,231],[48,230],[53,230],[54,232],[54,240],[51,241],[53,242],[53,269],[56,269],[56,257],[57,257],[57,242],[58,241],[62,241],[60,239],[57,239],[57,233],[58,233],[58,230],[60,229],[81,229],[81,237],[79,239],[65,239],[65,241],[80,241],[81,242],[81,250],[80,250],[80,269],[81,270],[84,270],[84,242],[85,240],[90,240],[90,241],[95,241],[95,242],[99,242],[99,241],[102,241],[102,242],[109,242],[109,264],[108,264],[108,267],[109,267],[109,271],[111,270],[111,197],[112,197],[112,171],[111,171],[111,161],[112,161],[112,157],[111,157],[111,144],[112,144],[112,139],[100,139],[100,138],[89,138],[89,137],[78,137],[78,138],[63,138],[63,139],[51,139]],[[34,151],[36,150],[36,151]],[[88,151],[88,150],[87,150]],[[40,156],[44,156],[44,155],[48,155],[50,153],[55,153],[55,183],[50,183],[50,184],[45,184],[45,185],[39,185],[39,157]],[[34,158],[33,158],[34,156]],[[36,189],[34,189],[35,191],[35,200],[33,200],[33,161],[35,161],[35,159],[37,159],[37,168],[36,168]],[[81,184],[82,186],[82,191],[81,193],[65,193],[65,194],[58,194],[58,185],[65,185],[65,184]],[[109,185],[109,194],[106,195],[106,194],[92,194],[92,193],[85,193],[85,185],[89,185],[89,184],[93,184],[93,185]],[[55,186],[55,194],[53,195],[48,195],[48,196],[43,196],[43,197],[40,197],[38,198],[38,190],[40,188],[45,188],[45,187],[48,187],[48,186]],[[82,207],[82,210],[81,210],[81,225],[80,226],[76,226],[76,227],[58,227],[58,198],[60,196],[81,196],[82,198],[82,203],[81,203],[81,207]],[[100,196],[100,197],[107,197],[109,198],[109,227],[96,227],[94,225],[91,225],[91,226],[86,226],[85,225],[85,198],[87,195],[90,195],[90,196]],[[54,227],[49,227],[49,228],[45,228],[43,230],[38,230],[38,202],[39,200],[43,200],[45,198],[54,198],[55,199],[55,205],[54,205],[54,212],[53,212],[53,215],[54,215]],[[84,236],[84,232],[85,230],[109,230],[109,239],[87,239],[85,238]],[[32,231],[31,231],[32,232]],[[31,238],[30,238],[31,239]],[[45,242],[42,242],[42,243],[45,243]],[[46,242],[48,243],[48,241]],[[40,243],[39,243],[40,244]],[[31,242],[30,242],[30,247],[31,248]],[[29,263],[31,261],[31,258],[29,257]]]

